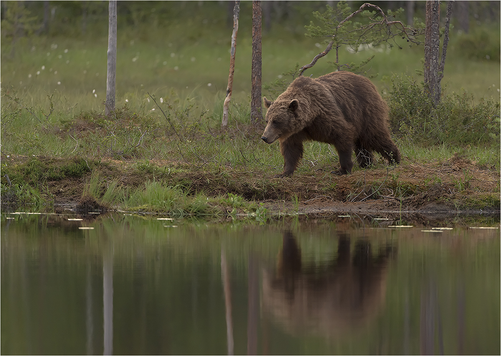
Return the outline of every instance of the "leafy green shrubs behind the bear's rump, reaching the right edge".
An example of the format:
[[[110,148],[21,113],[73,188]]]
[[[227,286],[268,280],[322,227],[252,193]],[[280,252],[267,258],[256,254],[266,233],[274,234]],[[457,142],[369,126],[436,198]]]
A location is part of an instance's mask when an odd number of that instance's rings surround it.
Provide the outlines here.
[[[470,94],[448,95],[443,89],[435,107],[423,83],[399,76],[391,81],[389,116],[397,135],[416,144],[499,145],[499,102],[481,98],[475,104]]]

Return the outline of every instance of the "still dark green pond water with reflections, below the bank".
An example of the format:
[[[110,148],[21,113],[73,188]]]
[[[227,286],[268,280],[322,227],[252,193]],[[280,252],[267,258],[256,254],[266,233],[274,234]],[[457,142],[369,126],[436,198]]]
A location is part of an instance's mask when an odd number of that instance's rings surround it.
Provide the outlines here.
[[[2,354],[500,353],[498,229],[68,218],[2,214]]]

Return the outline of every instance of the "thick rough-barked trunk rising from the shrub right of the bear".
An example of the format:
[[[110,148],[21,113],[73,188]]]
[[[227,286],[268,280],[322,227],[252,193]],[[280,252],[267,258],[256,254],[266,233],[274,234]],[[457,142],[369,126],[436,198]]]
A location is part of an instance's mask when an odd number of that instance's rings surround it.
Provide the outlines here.
[[[424,38],[424,84],[435,105],[440,101],[438,80],[438,56],[440,49],[440,4],[436,0],[426,2],[426,30]]]

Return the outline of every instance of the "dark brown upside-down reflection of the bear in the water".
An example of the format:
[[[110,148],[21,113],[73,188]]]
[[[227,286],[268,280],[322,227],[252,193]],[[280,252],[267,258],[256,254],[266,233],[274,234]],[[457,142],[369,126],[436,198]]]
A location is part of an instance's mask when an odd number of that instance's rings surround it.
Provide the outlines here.
[[[352,254],[349,237],[340,234],[337,256],[318,266],[302,263],[292,233],[284,233],[283,240],[276,272],[263,272],[263,308],[288,332],[345,336],[382,309],[390,245],[373,254],[367,240],[358,240]]]

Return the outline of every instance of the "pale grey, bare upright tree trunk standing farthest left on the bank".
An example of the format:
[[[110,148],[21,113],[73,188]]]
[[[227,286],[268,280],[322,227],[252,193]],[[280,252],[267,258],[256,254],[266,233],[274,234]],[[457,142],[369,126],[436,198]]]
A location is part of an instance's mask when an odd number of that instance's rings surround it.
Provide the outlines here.
[[[115,82],[117,73],[117,1],[109,2],[108,72],[106,76],[105,115],[115,110]]]

